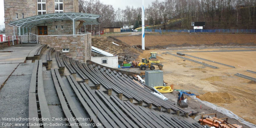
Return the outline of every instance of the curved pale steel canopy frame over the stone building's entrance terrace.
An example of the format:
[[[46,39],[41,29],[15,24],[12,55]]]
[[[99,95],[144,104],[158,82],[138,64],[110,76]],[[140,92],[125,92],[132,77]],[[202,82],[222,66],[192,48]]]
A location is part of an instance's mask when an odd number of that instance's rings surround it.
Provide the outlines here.
[[[42,14],[36,15],[32,17],[23,18],[20,20],[15,20],[9,23],[11,26],[19,27],[19,36],[20,36],[20,27],[26,27],[31,29],[33,26],[38,25],[40,23],[54,22],[60,20],[72,20],[73,21],[73,35],[75,35],[75,21],[81,20],[85,21],[84,25],[91,24],[101,24],[98,21],[98,18],[101,18],[101,15],[97,14],[89,14],[89,13],[51,13],[51,14]]]

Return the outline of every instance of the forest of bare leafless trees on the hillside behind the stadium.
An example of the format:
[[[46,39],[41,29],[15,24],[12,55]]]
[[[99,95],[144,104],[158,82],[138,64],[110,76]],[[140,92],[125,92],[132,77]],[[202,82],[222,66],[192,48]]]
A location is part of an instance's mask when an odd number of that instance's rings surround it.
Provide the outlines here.
[[[140,7],[115,10],[99,0],[80,0],[79,12],[102,15],[99,28],[141,25]],[[145,8],[145,25],[154,29],[192,29],[196,21],[205,21],[204,29],[256,29],[255,20],[256,0],[155,0]]]

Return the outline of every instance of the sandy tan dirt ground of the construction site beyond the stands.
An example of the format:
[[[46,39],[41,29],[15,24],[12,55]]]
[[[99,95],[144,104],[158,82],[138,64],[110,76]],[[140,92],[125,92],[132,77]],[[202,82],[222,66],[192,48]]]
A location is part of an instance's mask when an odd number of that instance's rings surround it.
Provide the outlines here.
[[[237,49],[243,49],[238,47]],[[184,51],[204,51],[205,49],[189,48]],[[207,49],[231,50],[229,48]],[[232,48],[232,50],[235,50]],[[150,52],[158,52],[158,58],[164,65],[164,81],[174,84],[174,89],[190,90],[199,94],[201,100],[209,101],[237,114],[244,120],[256,124],[256,84],[250,80],[234,76],[241,73],[256,78],[256,74],[245,72],[245,70],[256,71],[256,52],[189,52],[185,53],[196,57],[217,61],[223,64],[235,66],[235,68],[224,65],[191,58],[196,61],[219,67],[213,69],[173,55],[165,55],[163,52],[182,52],[182,50],[171,51],[168,49],[155,49],[144,51],[139,57],[147,58]],[[156,68],[157,70],[158,68]]]

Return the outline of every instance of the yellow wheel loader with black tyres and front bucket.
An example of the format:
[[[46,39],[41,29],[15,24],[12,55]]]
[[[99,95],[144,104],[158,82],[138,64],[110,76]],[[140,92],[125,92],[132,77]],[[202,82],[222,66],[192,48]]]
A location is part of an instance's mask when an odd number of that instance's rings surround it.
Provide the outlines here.
[[[142,58],[142,59],[141,59],[141,62],[139,62],[139,63],[137,64],[137,67],[140,68],[141,70],[145,70],[145,69],[147,69],[147,68],[150,68],[151,70],[155,70],[155,66],[153,66],[153,65],[157,65],[160,70],[162,70],[162,69],[163,69],[163,66],[164,66],[164,65],[159,64],[159,63],[158,63],[158,64],[156,64],[156,63],[151,63],[148,59]]]

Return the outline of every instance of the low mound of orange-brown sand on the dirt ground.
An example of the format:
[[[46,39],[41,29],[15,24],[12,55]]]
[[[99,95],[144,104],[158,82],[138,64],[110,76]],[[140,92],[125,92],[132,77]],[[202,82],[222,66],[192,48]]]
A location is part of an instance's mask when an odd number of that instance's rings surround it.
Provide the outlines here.
[[[232,103],[233,101],[237,100],[235,96],[228,92],[207,92],[203,95],[200,95],[200,99],[211,103]]]

